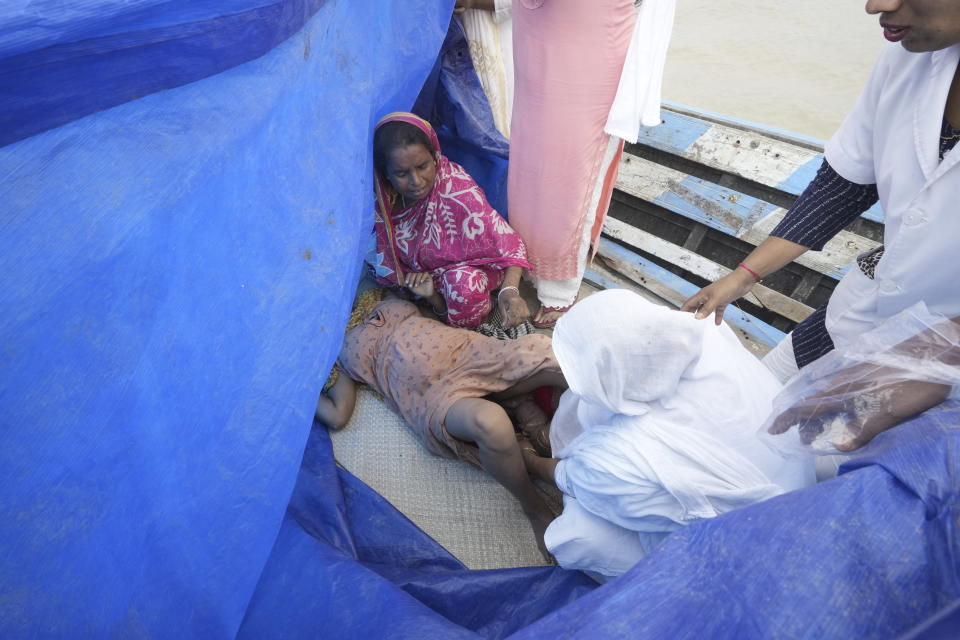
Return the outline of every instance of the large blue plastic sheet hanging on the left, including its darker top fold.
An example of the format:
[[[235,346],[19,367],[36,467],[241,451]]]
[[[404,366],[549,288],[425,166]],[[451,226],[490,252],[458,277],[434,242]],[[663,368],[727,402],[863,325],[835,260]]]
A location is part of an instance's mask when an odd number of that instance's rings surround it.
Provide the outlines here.
[[[0,636],[231,637],[452,0],[64,4],[0,13]]]

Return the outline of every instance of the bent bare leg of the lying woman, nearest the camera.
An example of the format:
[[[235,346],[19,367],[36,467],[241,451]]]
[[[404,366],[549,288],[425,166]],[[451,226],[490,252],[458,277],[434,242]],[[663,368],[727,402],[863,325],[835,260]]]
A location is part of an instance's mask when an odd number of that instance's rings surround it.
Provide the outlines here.
[[[445,424],[450,435],[477,443],[483,468],[520,501],[540,551],[549,557],[543,535],[553,513],[527,475],[513,424],[503,407],[482,398],[458,400],[447,412]]]

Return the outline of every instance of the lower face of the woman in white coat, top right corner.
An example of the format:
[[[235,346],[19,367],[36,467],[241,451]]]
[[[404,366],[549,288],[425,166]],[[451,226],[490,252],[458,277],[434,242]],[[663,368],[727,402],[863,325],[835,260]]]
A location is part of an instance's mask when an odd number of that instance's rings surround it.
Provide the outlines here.
[[[958,0],[867,0],[867,13],[880,14],[883,36],[907,51],[939,51],[960,43]]]

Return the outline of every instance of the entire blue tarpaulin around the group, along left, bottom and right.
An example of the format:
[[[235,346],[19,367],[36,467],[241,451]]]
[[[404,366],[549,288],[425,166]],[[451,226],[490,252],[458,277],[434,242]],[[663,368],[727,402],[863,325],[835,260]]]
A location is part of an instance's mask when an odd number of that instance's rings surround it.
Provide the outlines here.
[[[949,637],[956,405],[601,588],[468,571],[336,467],[373,123],[432,78],[503,175],[452,4],[0,5],[0,637]]]

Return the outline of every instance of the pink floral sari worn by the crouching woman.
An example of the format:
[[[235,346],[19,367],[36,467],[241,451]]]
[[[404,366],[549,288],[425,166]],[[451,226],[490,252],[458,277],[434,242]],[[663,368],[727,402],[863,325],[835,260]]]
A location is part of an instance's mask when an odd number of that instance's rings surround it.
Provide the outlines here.
[[[529,268],[523,241],[487,202],[480,186],[440,153],[433,127],[412,113],[392,113],[377,127],[406,122],[427,134],[437,156],[437,181],[422,200],[397,206],[393,187],[375,172],[375,247],[367,261],[380,284],[402,286],[404,273],[429,272],[447,303],[447,322],[475,328],[492,308],[491,292],[508,267]]]

